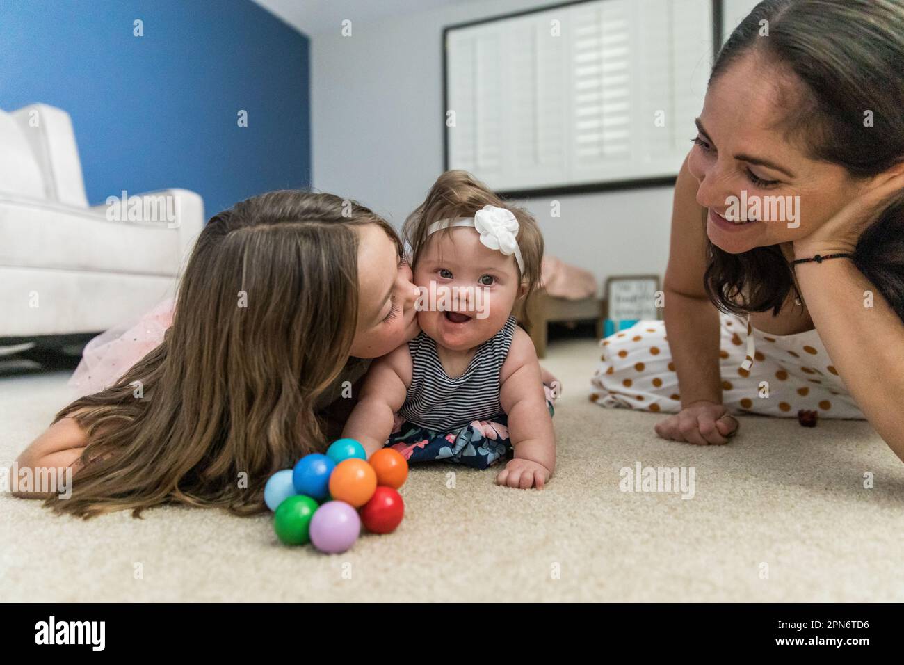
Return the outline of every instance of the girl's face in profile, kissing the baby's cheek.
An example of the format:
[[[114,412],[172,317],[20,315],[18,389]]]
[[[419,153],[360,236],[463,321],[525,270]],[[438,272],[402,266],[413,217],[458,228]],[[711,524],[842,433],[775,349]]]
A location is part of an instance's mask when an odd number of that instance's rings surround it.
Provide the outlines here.
[[[396,243],[377,224],[358,230],[358,329],[351,356],[385,356],[419,333],[414,302],[419,291]]]

